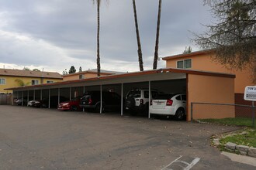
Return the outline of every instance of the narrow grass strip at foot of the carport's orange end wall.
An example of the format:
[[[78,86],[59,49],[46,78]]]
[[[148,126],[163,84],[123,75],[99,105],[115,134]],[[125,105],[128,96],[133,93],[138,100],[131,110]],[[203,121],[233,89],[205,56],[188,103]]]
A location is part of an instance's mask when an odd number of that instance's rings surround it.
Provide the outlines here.
[[[229,124],[229,125],[236,125],[236,126],[252,127],[252,119],[246,118],[246,117],[234,117],[234,118],[223,118],[223,119],[200,119],[199,121],[209,122],[214,124]]]

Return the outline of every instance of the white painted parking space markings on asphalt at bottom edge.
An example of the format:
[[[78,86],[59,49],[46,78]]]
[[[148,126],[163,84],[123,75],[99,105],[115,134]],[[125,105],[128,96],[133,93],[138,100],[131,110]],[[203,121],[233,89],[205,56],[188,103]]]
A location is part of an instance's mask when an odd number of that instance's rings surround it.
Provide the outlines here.
[[[185,157],[185,160],[182,160],[182,157],[183,156],[176,158],[175,161],[171,162],[161,170],[175,170],[177,167],[178,169],[182,168],[184,170],[189,170],[200,161],[200,158],[192,158],[192,161],[186,162],[187,159],[191,160],[191,157]]]

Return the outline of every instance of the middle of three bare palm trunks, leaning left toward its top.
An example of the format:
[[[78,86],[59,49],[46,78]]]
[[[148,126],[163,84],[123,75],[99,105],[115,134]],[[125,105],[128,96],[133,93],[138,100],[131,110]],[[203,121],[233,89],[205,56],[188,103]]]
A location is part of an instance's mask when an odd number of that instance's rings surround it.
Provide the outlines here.
[[[141,51],[141,45],[140,45],[140,33],[139,33],[139,26],[137,21],[137,10],[136,10],[136,4],[135,0],[133,0],[133,13],[134,13],[134,20],[135,20],[135,27],[136,27],[136,34],[137,34],[137,44],[138,44],[138,57],[139,57],[139,65],[140,65],[140,71],[143,71],[143,59],[142,59],[142,51]]]

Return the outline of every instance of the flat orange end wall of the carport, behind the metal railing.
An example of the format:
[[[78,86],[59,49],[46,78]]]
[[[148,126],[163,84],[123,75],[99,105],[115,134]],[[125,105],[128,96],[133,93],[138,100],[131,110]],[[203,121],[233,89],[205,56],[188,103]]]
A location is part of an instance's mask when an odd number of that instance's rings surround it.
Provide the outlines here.
[[[234,78],[188,75],[188,121],[191,103],[234,104]],[[235,117],[234,106],[193,105],[193,119]]]

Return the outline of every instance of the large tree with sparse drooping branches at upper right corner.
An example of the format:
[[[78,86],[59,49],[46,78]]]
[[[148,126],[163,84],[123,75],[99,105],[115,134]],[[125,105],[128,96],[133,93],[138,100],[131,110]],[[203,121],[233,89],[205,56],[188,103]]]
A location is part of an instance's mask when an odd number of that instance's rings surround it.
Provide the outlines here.
[[[195,34],[202,49],[214,49],[216,59],[226,66],[243,69],[250,66],[256,82],[256,2],[255,0],[204,0],[219,22]]]

